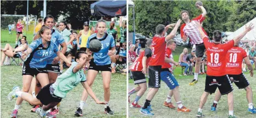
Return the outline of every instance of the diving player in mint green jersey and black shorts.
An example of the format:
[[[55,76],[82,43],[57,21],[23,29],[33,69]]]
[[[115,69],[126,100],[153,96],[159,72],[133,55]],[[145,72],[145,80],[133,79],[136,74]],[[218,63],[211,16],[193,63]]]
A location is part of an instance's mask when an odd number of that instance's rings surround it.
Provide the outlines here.
[[[66,70],[65,73],[58,76],[56,82],[44,86],[36,98],[33,97],[30,93],[21,92],[19,87],[15,86],[13,87],[13,91],[9,93],[8,99],[12,100],[15,97],[19,97],[29,102],[30,104],[43,104],[42,109],[36,109],[36,113],[41,117],[56,117],[55,115],[51,114],[51,112],[47,113],[46,111],[57,105],[60,101],[62,101],[62,98],[66,97],[66,94],[70,90],[81,83],[97,104],[105,104],[105,102],[98,100],[98,98],[94,95],[91,87],[86,82],[85,74],[82,68],[85,67],[87,57],[88,55],[85,51],[77,52],[75,56],[75,62],[71,64],[70,68]]]

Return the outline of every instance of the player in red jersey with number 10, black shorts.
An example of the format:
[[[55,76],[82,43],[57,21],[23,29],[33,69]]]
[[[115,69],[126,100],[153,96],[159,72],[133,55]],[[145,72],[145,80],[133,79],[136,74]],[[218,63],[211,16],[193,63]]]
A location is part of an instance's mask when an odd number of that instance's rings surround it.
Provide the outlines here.
[[[235,44],[233,48],[231,48],[226,55],[226,74],[229,75],[231,82],[235,82],[236,86],[239,89],[244,88],[246,90],[246,97],[248,101],[248,112],[252,114],[256,114],[256,109],[253,107],[253,91],[251,86],[249,85],[248,80],[243,75],[242,72],[242,62],[243,60],[247,64],[248,69],[250,70],[251,76],[253,76],[253,66],[247,56],[247,53],[242,48],[238,47],[239,42]],[[215,95],[215,99],[212,105],[211,110],[216,111],[217,103],[219,102],[221,97],[220,91],[218,91]]]

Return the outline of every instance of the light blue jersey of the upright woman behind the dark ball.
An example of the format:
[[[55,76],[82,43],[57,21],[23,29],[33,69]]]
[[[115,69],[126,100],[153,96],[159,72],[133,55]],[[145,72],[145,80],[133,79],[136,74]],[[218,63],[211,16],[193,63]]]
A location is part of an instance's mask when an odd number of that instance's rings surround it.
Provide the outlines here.
[[[90,37],[88,37],[87,45],[86,47],[89,47],[90,40],[98,39],[97,33],[92,34]],[[104,34],[104,36],[101,39],[98,39],[101,41],[101,50],[98,52],[93,53],[93,61],[96,65],[107,65],[110,64],[110,57],[108,56],[108,50],[113,48],[115,46],[115,41],[112,35],[109,35],[107,33]]]

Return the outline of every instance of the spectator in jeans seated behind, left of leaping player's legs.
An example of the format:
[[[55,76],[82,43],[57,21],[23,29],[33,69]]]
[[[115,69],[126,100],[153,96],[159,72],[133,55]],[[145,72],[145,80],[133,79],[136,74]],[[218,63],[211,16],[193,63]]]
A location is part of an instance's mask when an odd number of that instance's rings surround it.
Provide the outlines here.
[[[179,58],[179,63],[180,66],[185,66],[185,71],[183,73],[183,75],[187,75],[187,69],[190,68],[190,64],[187,63],[186,59],[187,59],[187,48],[183,49],[183,52],[180,54],[180,58]]]

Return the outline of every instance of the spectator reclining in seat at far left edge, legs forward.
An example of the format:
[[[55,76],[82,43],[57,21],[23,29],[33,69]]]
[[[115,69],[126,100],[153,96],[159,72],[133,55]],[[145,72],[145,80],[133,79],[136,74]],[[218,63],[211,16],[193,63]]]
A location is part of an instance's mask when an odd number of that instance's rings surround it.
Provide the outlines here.
[[[1,66],[3,66],[5,56],[13,57],[16,54],[16,52],[22,55],[21,51],[25,51],[26,49],[27,49],[26,36],[21,37],[21,39],[19,40],[18,46],[16,46],[14,49],[12,48],[12,46],[10,46],[10,44],[5,44],[4,49],[1,49],[1,52],[2,52]]]

